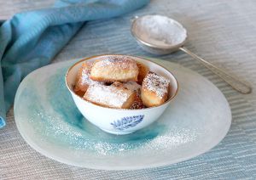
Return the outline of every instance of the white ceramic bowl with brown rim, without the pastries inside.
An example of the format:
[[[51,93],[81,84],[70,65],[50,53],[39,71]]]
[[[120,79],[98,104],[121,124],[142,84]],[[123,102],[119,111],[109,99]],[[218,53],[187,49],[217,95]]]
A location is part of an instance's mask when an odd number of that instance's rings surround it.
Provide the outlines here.
[[[149,124],[156,121],[160,117],[160,115],[163,114],[167,106],[171,104],[172,98],[174,98],[177,94],[177,80],[172,75],[172,73],[166,70],[164,67],[157,65],[146,59],[129,56],[132,59],[135,59],[137,62],[143,63],[143,65],[147,65],[149,70],[161,76],[165,76],[171,81],[168,100],[166,101],[165,104],[143,110],[111,109],[96,104],[92,104],[84,100],[83,98],[80,98],[76,93],[74,93],[73,86],[79,68],[83,64],[83,62],[85,60],[94,61],[96,59],[106,59],[110,56],[124,57],[126,55],[109,54],[82,59],[79,62],[72,65],[67,70],[66,84],[69,92],[72,94],[75,104],[77,105],[82,115],[84,115],[84,117],[88,121],[96,125],[96,127],[101,128],[105,132],[113,134],[129,134],[143,127],[147,127]]]

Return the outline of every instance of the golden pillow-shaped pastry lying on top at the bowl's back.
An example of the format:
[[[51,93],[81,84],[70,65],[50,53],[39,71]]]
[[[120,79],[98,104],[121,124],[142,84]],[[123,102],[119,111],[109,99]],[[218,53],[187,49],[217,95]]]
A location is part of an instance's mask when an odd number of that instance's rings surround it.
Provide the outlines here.
[[[137,76],[136,61],[127,57],[96,61],[90,70],[90,78],[102,82],[137,82]]]

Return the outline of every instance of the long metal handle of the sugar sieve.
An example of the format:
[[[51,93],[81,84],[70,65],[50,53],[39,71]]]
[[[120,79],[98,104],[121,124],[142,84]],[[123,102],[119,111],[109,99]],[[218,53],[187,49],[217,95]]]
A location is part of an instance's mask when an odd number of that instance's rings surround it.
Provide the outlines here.
[[[182,50],[184,53],[189,54],[194,59],[200,61],[202,65],[205,65],[209,70],[212,70],[214,74],[218,75],[221,79],[224,80],[224,82],[227,82],[231,87],[236,89],[236,91],[244,94],[252,92],[252,87],[248,85],[246,82],[241,82],[236,76],[231,76],[229,73],[225,72],[224,70],[221,70],[216,65],[212,65],[207,60],[202,59],[195,53],[192,53],[187,48],[181,47],[179,49]]]

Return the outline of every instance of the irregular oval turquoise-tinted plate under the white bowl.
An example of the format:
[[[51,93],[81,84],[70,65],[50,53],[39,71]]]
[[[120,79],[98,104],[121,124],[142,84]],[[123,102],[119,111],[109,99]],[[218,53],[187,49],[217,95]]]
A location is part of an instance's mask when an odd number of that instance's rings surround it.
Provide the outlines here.
[[[181,65],[154,59],[179,82],[172,105],[140,131],[122,136],[102,132],[79,113],[65,86],[67,68],[75,61],[33,71],[16,93],[18,130],[42,155],[93,169],[143,169],[201,155],[229,131],[230,106],[212,82]]]

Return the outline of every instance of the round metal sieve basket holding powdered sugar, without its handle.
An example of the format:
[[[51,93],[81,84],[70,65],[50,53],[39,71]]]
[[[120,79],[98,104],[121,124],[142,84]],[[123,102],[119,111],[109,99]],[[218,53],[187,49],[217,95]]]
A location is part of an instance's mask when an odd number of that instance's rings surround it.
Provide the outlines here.
[[[162,15],[135,17],[131,23],[131,34],[148,53],[173,53],[183,47],[187,31],[183,25]]]

